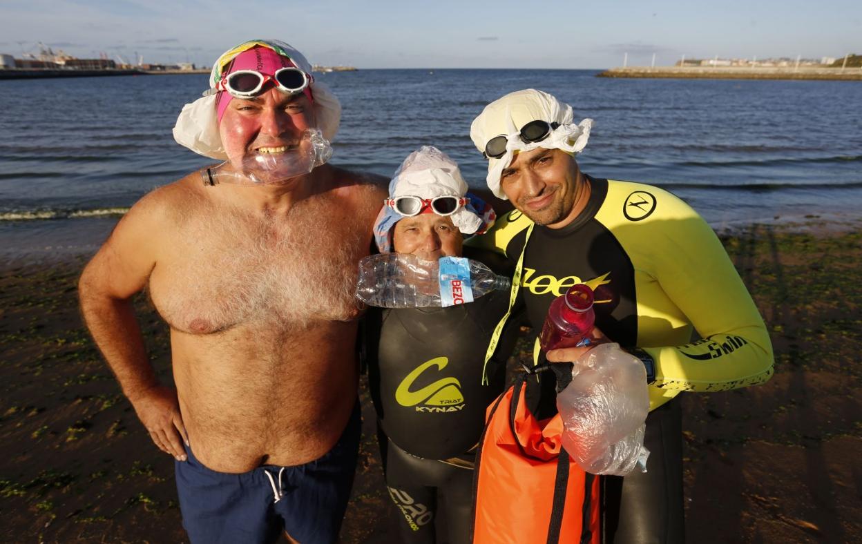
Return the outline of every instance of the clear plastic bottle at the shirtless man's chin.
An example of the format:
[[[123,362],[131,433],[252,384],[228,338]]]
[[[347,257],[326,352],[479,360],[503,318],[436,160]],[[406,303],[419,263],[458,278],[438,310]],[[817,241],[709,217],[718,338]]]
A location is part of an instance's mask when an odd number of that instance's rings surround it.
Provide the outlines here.
[[[204,184],[272,185],[302,176],[324,164],[332,147],[317,128],[303,132],[297,145],[283,153],[254,153],[242,164],[224,162],[203,171]]]

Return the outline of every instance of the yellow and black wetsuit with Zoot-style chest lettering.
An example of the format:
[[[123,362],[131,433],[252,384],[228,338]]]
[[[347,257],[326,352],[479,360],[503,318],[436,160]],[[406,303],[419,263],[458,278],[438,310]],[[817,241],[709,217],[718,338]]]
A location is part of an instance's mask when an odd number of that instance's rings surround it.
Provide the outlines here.
[[[534,331],[555,297],[584,283],[596,291],[597,327],[653,357],[648,472],[603,478],[603,538],[683,541],[681,415],[671,399],[765,382],[769,335],[721,242],[688,204],[650,185],[587,178],[590,200],[565,227],[534,225],[515,210],[469,243],[521,263],[513,315],[526,308]],[[702,341],[690,343],[693,330]],[[541,375],[542,394],[532,399],[540,417],[556,411],[554,390],[571,380],[570,368]]]

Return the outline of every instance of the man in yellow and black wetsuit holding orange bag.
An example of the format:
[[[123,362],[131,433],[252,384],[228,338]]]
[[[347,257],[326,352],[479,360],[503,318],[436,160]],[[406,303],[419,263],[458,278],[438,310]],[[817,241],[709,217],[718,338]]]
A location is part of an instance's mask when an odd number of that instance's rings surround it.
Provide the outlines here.
[[[515,264],[509,316],[525,312],[534,330],[572,285],[596,291],[595,334],[643,360],[651,410],[647,472],[604,478],[603,539],[681,542],[682,429],[673,399],[765,382],[771,342],[721,242],[688,204],[657,187],[580,171],[575,154],[591,125],[575,124],[571,106],[532,89],[485,107],[471,138],[489,161],[490,190],[515,209],[475,243]],[[536,346],[534,362],[544,364]],[[547,361],[575,361],[588,349],[552,350]],[[571,380],[569,369],[542,374],[540,413],[555,410],[554,389]]]

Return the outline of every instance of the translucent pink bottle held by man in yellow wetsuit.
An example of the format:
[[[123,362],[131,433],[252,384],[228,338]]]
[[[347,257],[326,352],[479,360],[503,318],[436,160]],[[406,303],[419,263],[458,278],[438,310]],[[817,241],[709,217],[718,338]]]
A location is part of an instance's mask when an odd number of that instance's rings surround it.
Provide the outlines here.
[[[584,284],[572,285],[565,295],[555,298],[539,335],[542,351],[589,343],[587,336],[596,322],[592,304],[593,291]]]

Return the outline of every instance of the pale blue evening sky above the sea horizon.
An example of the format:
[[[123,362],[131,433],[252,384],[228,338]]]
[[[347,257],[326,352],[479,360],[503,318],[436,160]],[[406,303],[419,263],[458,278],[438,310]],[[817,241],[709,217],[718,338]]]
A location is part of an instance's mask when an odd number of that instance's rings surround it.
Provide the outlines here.
[[[325,66],[609,68],[686,59],[862,54],[858,0],[436,2],[0,0],[0,53],[211,66],[278,38]]]

